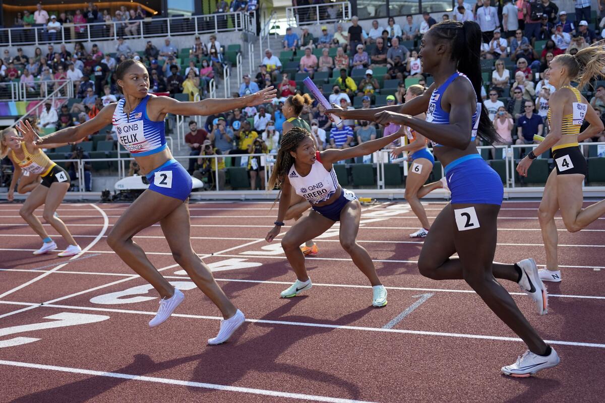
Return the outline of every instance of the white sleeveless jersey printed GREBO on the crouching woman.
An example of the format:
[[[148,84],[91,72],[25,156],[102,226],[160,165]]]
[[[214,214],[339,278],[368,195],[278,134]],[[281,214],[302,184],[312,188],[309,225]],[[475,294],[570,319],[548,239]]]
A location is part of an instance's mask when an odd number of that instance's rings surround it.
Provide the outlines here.
[[[334,168],[328,172],[319,158],[319,151],[315,153],[315,162],[307,176],[301,176],[292,165],[288,172],[288,179],[296,195],[302,196],[311,204],[317,204],[330,198],[338,190],[338,178]]]

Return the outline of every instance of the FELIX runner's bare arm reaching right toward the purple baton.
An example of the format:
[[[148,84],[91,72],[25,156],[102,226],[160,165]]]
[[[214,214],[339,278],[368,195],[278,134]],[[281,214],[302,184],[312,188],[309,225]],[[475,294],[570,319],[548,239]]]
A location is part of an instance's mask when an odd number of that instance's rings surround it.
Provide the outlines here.
[[[197,102],[178,102],[170,97],[157,97],[154,99],[154,103],[159,103],[160,113],[162,114],[209,116],[236,108],[246,108],[246,106],[257,106],[271,102],[276,93],[277,90],[270,86],[245,97],[206,98]]]

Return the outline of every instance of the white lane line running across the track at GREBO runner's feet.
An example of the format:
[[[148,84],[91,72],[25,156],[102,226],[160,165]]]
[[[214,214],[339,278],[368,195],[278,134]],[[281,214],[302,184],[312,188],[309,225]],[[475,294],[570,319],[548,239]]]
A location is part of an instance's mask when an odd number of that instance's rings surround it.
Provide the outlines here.
[[[164,269],[162,269],[164,270]],[[32,272],[32,269],[0,269],[0,271],[15,271],[15,272]],[[62,271],[57,270],[53,274],[77,274],[83,276],[113,276],[113,277],[132,277],[132,274],[125,273],[105,273],[105,272],[94,272],[94,271]],[[188,276],[164,276],[165,279],[176,279],[185,280],[189,279]],[[256,284],[279,284],[279,285],[291,285],[292,282],[280,282],[272,280],[242,280],[242,279],[217,279],[217,282],[234,282],[234,283],[256,283]],[[335,287],[335,288],[371,288],[370,285],[357,285],[357,284],[331,284],[331,283],[313,283],[313,286],[318,287]],[[449,289],[449,288],[420,288],[420,287],[397,287],[397,286],[385,286],[386,289],[396,291],[427,291],[427,292],[453,292],[459,294],[477,294],[471,289]],[[510,295],[521,295],[525,296],[525,292],[509,292]],[[548,294],[548,297],[553,298],[584,298],[589,300],[605,300],[605,297],[600,295],[574,295],[574,294]],[[0,301],[5,303],[4,301]],[[7,302],[8,303],[8,302]],[[11,302],[12,303],[12,302]]]

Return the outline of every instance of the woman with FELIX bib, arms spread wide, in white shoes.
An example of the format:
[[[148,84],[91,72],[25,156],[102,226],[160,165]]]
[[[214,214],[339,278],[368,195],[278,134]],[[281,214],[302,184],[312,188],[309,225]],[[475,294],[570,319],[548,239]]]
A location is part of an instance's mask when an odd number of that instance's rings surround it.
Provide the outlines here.
[[[167,114],[212,115],[235,108],[261,105],[275,97],[273,87],[246,97],[206,99],[198,102],[178,102],[169,97],[148,94],[149,75],[143,63],[129,59],[116,69],[117,85],[124,94],[117,103],[105,106],[91,120],[40,138],[27,126],[22,131],[25,141],[43,146],[46,143],[68,143],[87,137],[107,124],[116,128],[118,141],[128,150],[147,173],[149,189],[132,203],[114,224],[107,243],[128,266],[148,281],[162,297],[157,315],[149,321],[154,327],[167,320],[185,296],[169,283],[149,262],[134,237],[141,230],[160,223],[172,256],[191,280],[217,305],[223,314],[217,337],[209,344],[226,341],[244,323],[244,315],[235,308],[215,282],[208,266],[191,247],[189,208],[191,176],[174,158],[166,146],[164,119]]]

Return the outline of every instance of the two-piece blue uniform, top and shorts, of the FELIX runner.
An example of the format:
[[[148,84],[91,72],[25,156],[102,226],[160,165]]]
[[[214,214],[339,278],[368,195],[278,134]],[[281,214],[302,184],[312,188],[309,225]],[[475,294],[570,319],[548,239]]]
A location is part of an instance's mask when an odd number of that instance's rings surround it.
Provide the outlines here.
[[[135,157],[159,153],[168,147],[164,121],[153,121],[147,116],[147,103],[151,97],[155,95],[147,95],[129,113],[124,112],[126,98],[122,98],[113,114],[117,140]],[[191,193],[191,176],[174,158],[148,172],[146,177],[149,190],[160,195],[185,201]]]

